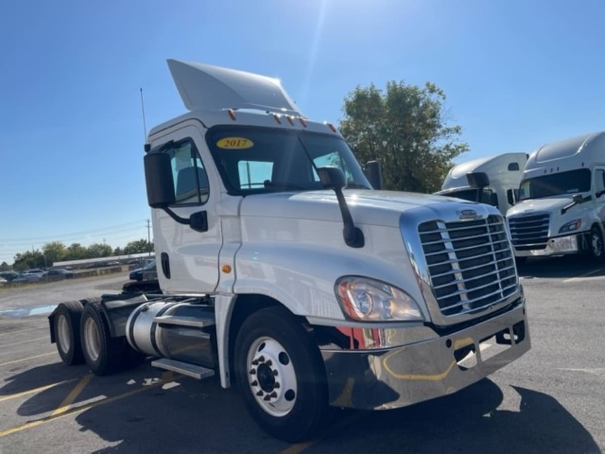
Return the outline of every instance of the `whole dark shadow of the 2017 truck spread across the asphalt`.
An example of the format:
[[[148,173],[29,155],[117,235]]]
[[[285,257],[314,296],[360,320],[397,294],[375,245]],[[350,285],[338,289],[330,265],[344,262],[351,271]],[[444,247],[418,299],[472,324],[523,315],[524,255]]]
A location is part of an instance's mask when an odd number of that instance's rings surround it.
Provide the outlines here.
[[[11,377],[0,396],[30,387],[18,386],[21,381],[39,383],[36,377],[56,374],[57,366],[61,365],[36,367]],[[65,378],[87,373],[83,366],[61,367]],[[110,377],[94,377],[80,393],[73,406],[90,406],[73,412],[80,432],[93,432],[114,445],[96,452],[280,452],[289,447],[258,429],[238,393],[221,389],[217,381],[179,378],[145,392],[129,392],[154,383],[160,375],[146,364]],[[71,382],[67,388],[46,389],[31,396],[19,407],[19,415],[30,416],[30,420],[36,415],[44,418],[74,385]],[[519,410],[499,409],[503,392],[484,379],[454,395],[399,410],[339,411],[339,417],[306,450],[600,452],[590,433],[555,398],[523,387],[513,389],[520,395]],[[102,402],[102,398],[116,396]]]

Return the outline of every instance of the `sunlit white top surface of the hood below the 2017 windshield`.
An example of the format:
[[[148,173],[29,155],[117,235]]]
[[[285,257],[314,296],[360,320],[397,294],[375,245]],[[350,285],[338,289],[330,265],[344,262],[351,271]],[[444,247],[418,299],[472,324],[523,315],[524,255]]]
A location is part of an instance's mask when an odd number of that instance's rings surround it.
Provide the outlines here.
[[[479,204],[451,197],[416,194],[414,192],[345,189],[345,199],[353,221],[361,224],[399,227],[402,212],[430,205],[452,203]],[[284,217],[342,222],[338,200],[333,191],[275,192],[244,197],[242,216]],[[436,214],[437,217],[437,214]]]

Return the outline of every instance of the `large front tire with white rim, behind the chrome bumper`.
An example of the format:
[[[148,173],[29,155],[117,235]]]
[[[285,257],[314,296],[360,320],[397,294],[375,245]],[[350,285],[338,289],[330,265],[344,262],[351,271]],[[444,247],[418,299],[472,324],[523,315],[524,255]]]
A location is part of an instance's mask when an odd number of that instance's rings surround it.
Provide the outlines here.
[[[308,439],[328,418],[318,347],[284,308],[261,309],[244,321],[235,341],[235,373],[249,412],[275,438]]]

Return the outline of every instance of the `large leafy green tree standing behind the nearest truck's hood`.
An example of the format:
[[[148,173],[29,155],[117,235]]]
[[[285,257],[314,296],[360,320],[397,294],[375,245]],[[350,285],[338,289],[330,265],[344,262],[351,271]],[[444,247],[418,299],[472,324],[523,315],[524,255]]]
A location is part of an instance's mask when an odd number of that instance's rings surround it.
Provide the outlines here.
[[[345,97],[340,130],[360,162],[381,163],[385,189],[434,192],[452,160],[468,150],[457,141],[462,128],[448,125],[444,102],[443,90],[430,82],[390,81],[386,93],[358,86]]]

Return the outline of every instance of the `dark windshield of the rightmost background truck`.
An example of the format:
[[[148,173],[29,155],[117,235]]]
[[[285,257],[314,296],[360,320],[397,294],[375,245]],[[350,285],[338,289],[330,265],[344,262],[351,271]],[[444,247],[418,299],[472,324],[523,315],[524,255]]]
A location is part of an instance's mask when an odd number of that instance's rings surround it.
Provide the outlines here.
[[[590,169],[575,169],[523,180],[519,186],[519,200],[587,191],[590,191]]]

